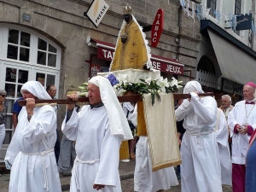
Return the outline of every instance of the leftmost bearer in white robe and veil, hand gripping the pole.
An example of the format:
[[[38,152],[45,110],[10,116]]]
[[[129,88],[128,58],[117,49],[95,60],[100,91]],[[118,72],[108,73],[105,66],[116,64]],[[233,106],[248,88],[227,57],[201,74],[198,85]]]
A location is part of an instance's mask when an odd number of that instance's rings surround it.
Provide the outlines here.
[[[50,105],[35,105],[37,99],[51,99],[42,84],[29,81],[21,87],[26,107],[19,114],[5,156],[11,168],[9,192],[61,192],[55,160],[56,115]]]

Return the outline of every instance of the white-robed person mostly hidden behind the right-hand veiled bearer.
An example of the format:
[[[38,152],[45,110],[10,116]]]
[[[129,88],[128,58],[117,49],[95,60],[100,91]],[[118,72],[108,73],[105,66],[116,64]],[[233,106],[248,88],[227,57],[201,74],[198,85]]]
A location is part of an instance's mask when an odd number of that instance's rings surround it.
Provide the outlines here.
[[[230,158],[230,148],[228,143],[229,130],[227,120],[223,111],[218,108],[215,135],[218,143],[218,153],[220,158],[221,183],[232,185],[232,161]]]

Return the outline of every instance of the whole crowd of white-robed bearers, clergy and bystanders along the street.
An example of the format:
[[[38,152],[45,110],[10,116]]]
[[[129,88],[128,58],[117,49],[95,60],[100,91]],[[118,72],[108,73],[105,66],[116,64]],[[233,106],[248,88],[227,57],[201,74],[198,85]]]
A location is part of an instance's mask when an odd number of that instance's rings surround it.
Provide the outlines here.
[[[233,107],[231,97],[224,95],[218,108],[212,96],[198,96],[203,93],[201,84],[190,81],[185,85],[183,93],[191,98],[179,100],[175,108],[182,159],[176,176],[173,167],[152,172],[147,137],[137,142],[137,104],[121,106],[108,79],[90,79],[90,105],[67,105],[61,148],[57,104],[35,104],[37,99],[54,99],[56,88],[49,85],[45,90],[39,82],[29,81],[21,87],[26,107],[15,102],[13,108],[15,134],[5,157],[11,169],[9,191],[61,191],[56,176],[71,173],[72,168],[71,191],[121,191],[119,147],[129,140],[130,159],[136,160],[135,191],[170,189],[181,177],[182,191],[217,192],[228,184],[233,192],[252,192],[256,183],[255,89],[252,82],[245,84],[243,101]],[[6,91],[0,90],[0,148],[5,136],[5,98]],[[77,101],[78,95],[67,98]],[[142,161],[137,156],[145,158]]]

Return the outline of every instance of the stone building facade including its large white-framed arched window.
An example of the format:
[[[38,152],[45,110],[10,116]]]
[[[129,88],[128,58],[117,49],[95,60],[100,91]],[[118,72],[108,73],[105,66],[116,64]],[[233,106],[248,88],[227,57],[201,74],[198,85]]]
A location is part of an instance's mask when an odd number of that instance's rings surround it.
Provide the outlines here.
[[[95,44],[88,46],[89,37],[115,44],[123,22],[126,3],[141,26],[152,25],[158,9],[164,9],[165,22],[160,42],[151,49],[153,55],[183,65],[183,74],[162,73],[168,79],[174,75],[184,83],[195,78],[200,22],[183,14],[179,1],[167,0],[107,0],[108,13],[96,28],[84,17],[91,0],[0,0],[0,89],[8,91],[6,150],[11,135],[12,106],[27,80],[42,81],[44,86],[55,84],[58,97],[77,90],[88,80],[91,65],[108,68],[110,61],[97,58]],[[169,3],[168,3],[169,2]],[[150,41],[150,32],[146,32]],[[165,60],[165,59],[164,59]],[[181,65],[181,66],[182,66]],[[65,108],[58,111],[58,125]],[[3,160],[4,153],[1,153]]]

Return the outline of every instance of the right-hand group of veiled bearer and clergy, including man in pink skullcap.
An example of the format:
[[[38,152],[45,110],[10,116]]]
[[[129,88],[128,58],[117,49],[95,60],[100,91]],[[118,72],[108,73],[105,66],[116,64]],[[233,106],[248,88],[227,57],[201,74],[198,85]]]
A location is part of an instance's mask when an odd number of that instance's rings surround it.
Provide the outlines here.
[[[255,90],[256,84],[249,82],[243,87],[243,101],[233,107],[231,97],[224,95],[217,108],[213,97],[198,96],[203,93],[201,84],[185,85],[184,93],[191,99],[176,109],[177,137],[183,134],[182,191],[222,191],[222,184],[232,186],[233,192],[255,190]]]

